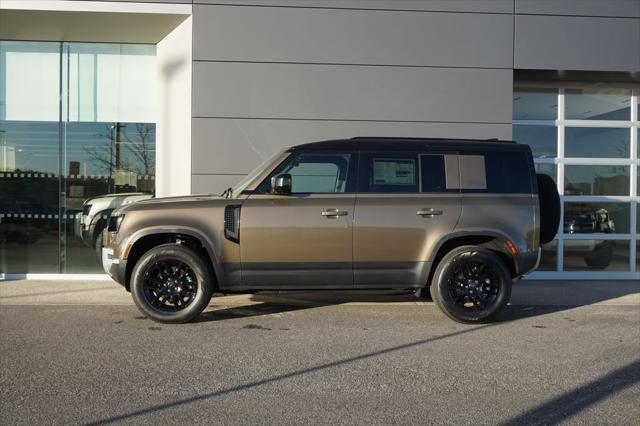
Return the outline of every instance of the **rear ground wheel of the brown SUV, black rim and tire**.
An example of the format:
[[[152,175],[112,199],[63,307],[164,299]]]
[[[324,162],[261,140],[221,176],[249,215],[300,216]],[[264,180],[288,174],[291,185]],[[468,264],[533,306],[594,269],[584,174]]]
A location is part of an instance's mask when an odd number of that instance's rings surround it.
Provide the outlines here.
[[[511,283],[511,274],[497,254],[484,247],[461,246],[436,267],[431,297],[454,321],[483,323],[509,302]]]

